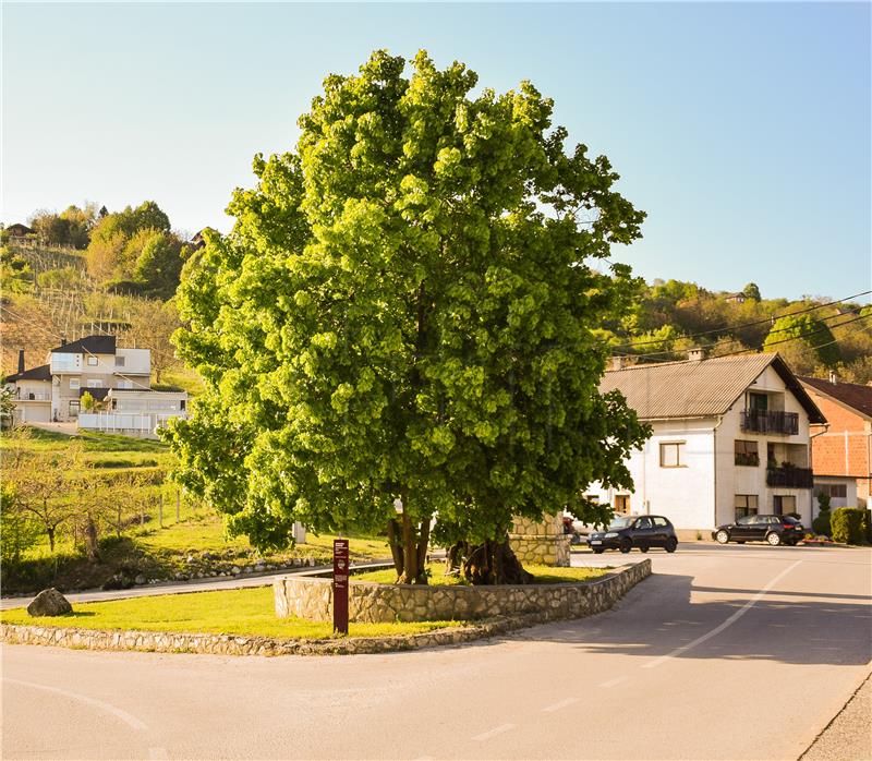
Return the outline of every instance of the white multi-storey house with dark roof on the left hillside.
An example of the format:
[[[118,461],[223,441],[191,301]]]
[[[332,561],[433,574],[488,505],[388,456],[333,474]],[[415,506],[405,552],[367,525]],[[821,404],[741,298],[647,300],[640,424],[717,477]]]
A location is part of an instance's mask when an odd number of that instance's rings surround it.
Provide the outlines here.
[[[86,336],[52,349],[44,365],[7,378],[15,397],[16,423],[76,421],[78,427],[154,436],[171,416],[186,416],[185,391],[152,389],[152,351],[117,346],[114,336]],[[96,409],[85,411],[89,394]],[[135,424],[133,420],[135,418]]]

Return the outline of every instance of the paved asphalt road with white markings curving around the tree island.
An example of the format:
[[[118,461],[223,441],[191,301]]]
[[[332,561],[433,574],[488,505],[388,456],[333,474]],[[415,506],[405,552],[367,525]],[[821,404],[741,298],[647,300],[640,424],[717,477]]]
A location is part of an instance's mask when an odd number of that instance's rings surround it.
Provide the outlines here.
[[[686,544],[649,557],[655,576],[608,613],[450,649],[9,645],[2,757],[797,759],[870,671],[872,552]]]

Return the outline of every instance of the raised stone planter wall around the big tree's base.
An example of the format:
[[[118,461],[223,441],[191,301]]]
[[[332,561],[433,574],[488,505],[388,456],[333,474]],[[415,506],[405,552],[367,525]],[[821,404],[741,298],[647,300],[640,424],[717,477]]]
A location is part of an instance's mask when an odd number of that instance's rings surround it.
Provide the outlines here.
[[[534,615],[538,620],[579,618],[606,611],[651,573],[651,560],[622,566],[596,581],[494,587],[419,587],[352,580],[349,618],[355,623],[476,620]],[[275,579],[276,615],[332,620],[330,579]]]

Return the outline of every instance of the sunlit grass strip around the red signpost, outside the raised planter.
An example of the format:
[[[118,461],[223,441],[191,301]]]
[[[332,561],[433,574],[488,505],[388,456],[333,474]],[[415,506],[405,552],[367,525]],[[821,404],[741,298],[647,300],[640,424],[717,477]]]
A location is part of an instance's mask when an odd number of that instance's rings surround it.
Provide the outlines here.
[[[106,603],[81,603],[69,616],[33,618],[24,608],[3,611],[4,624],[77,627],[81,629],[140,629],[214,635],[241,635],[282,639],[325,639],[332,624],[299,618],[277,618],[272,588],[237,589],[221,592],[161,594]],[[409,624],[351,624],[351,637],[414,635],[462,621],[415,621]]]

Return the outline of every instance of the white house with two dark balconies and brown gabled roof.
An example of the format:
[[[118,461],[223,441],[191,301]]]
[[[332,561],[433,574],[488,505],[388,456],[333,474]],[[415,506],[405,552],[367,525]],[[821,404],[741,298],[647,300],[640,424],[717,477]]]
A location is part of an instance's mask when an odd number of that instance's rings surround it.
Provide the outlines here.
[[[590,499],[666,516],[686,539],[758,512],[810,524],[809,425],[826,421],[777,354],[634,365],[600,388],[620,391],[653,434],[627,463],[632,491],[594,484]]]

